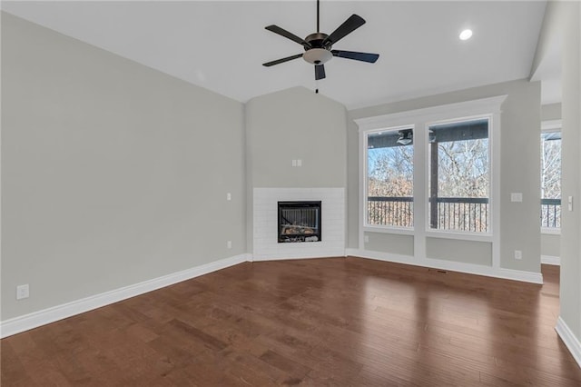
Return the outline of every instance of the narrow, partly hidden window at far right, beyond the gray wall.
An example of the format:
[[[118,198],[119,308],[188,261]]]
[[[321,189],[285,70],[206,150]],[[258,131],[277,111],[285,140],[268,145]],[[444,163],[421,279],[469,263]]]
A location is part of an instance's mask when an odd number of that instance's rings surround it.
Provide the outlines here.
[[[541,133],[541,227],[561,227],[560,125],[549,125]]]

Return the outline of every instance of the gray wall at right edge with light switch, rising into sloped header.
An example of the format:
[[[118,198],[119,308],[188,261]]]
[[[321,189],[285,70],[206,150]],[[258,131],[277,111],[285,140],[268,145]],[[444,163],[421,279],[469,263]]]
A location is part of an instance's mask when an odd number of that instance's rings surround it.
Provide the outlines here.
[[[561,53],[562,172],[561,197],[561,304],[559,317],[581,341],[581,3],[548,2],[537,53],[531,69],[556,45]],[[567,196],[573,196],[573,211],[566,209]],[[578,353],[578,347],[576,348]]]

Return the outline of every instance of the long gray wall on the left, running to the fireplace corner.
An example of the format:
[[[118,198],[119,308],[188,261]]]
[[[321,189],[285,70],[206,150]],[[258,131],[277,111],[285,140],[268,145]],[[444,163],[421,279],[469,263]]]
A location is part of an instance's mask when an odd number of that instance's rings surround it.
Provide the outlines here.
[[[242,104],[3,13],[2,113],[3,320],[246,253]]]

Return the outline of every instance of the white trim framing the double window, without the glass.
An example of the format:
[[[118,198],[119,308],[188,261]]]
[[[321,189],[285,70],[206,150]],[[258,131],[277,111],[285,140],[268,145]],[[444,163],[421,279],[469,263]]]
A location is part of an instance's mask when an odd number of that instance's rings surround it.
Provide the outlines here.
[[[414,128],[414,255],[426,259],[426,238],[441,237],[492,243],[492,266],[500,267],[500,106],[507,95],[498,95],[457,104],[445,104],[394,114],[383,114],[354,120],[359,126],[359,248],[364,248],[364,233],[371,231],[365,225],[365,194],[367,182],[367,134],[380,129],[399,126]],[[490,200],[491,223],[488,233],[455,233],[429,230],[428,211],[428,124],[446,120],[459,121],[470,117],[489,117],[488,150],[490,152]],[[419,132],[418,129],[421,131]],[[425,138],[424,138],[425,137]],[[424,225],[418,227],[419,224]],[[373,227],[373,231],[390,233],[389,227]],[[400,232],[399,232],[400,233]]]

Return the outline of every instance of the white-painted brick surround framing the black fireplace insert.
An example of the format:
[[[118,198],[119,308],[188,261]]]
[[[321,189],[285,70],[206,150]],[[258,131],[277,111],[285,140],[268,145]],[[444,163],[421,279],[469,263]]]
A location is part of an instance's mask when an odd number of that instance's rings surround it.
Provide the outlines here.
[[[279,243],[278,203],[320,201],[321,240]],[[253,259],[272,261],[345,255],[344,188],[254,188]]]

